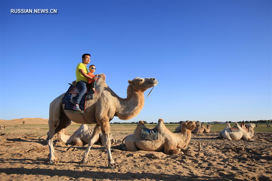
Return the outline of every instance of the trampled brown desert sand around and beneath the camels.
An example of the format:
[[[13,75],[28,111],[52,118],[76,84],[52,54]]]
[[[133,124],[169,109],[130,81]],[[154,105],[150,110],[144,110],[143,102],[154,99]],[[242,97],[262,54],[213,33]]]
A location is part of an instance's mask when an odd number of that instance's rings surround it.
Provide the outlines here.
[[[60,163],[50,165],[45,140],[47,123],[22,125],[21,122],[1,130],[5,133],[0,136],[1,180],[272,180],[271,132],[257,132],[252,142],[219,140],[218,131],[192,134],[188,147],[182,150],[184,155],[166,155],[122,151],[121,140],[133,133],[136,125],[111,125],[113,138],[118,140],[112,144],[112,156],[119,167],[109,169],[102,145],[93,145],[91,162],[83,165],[80,161],[86,145],[62,144],[57,135],[54,149]],[[1,120],[1,124],[6,123]],[[79,126],[70,125],[67,132],[72,133]],[[199,141],[203,149],[200,154]]]

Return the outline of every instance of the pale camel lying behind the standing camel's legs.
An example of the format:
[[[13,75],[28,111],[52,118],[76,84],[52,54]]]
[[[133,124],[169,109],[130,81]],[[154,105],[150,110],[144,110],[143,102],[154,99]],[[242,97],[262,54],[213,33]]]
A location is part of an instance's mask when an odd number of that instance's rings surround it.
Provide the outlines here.
[[[65,144],[74,143],[76,146],[82,146],[83,144],[88,144],[93,133],[93,129],[89,129],[86,124],[81,124],[81,126],[72,135],[68,135],[66,128],[58,132],[58,138],[61,142]],[[112,134],[110,133],[110,141],[114,142],[112,139]],[[99,133],[99,137],[96,137],[94,144],[104,144],[103,134]]]

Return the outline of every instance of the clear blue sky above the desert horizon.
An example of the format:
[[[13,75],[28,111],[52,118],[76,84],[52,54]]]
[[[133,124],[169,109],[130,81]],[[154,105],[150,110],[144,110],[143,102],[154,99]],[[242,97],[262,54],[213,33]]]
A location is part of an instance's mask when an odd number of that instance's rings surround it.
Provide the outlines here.
[[[271,1],[1,0],[0,7],[1,119],[48,118],[83,53],[120,97],[129,79],[158,80],[128,122],[272,118]],[[58,13],[11,14],[18,8]]]

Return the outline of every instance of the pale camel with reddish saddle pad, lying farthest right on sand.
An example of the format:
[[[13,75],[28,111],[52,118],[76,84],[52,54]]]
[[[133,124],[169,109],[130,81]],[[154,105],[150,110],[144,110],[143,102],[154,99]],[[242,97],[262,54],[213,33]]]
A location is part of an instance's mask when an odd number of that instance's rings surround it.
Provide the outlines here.
[[[235,127],[239,128],[241,131],[238,132],[232,132],[229,128],[226,128],[224,130],[222,130],[219,133],[219,137],[220,138],[225,138],[226,140],[240,140],[240,139],[244,139],[244,140],[248,140],[248,141],[254,141],[251,139],[251,137],[254,134],[254,127],[255,124],[248,124],[248,130],[249,131],[245,131],[243,128],[241,128],[241,126],[235,122]]]

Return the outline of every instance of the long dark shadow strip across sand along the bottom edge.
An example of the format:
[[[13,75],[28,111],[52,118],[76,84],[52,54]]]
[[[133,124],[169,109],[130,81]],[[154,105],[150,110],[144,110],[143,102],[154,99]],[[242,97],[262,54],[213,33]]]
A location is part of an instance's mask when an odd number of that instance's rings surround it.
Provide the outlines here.
[[[83,171],[77,171],[77,170],[60,170],[60,169],[45,169],[45,168],[34,168],[34,169],[28,169],[28,168],[0,168],[0,173],[5,174],[18,174],[18,173],[24,173],[26,175],[45,175],[45,176],[68,176],[72,177],[73,179],[79,179],[84,177],[85,179],[110,179],[110,180],[131,180],[131,179],[152,179],[152,180],[167,180],[167,181],[175,181],[175,180],[197,180],[197,179],[212,179],[214,181],[222,180],[220,178],[211,177],[211,176],[197,176],[194,174],[189,174],[190,176],[182,176],[182,175],[170,175],[166,173],[146,173],[143,172],[141,174],[139,173],[119,173],[114,172],[112,170],[109,174],[109,172],[104,171],[92,171],[92,170],[83,170]],[[229,177],[233,179],[232,177]]]

